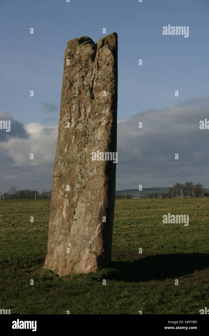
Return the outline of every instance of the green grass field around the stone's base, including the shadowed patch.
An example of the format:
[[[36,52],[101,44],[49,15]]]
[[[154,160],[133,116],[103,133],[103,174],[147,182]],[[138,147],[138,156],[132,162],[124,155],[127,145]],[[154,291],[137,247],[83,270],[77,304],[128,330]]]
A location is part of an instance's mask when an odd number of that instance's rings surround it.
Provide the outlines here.
[[[1,203],[0,309],[11,314],[199,314],[209,307],[208,205],[209,199],[201,198],[116,200],[110,268],[59,277],[43,268],[50,200]],[[189,215],[189,225],[163,224],[168,212]]]

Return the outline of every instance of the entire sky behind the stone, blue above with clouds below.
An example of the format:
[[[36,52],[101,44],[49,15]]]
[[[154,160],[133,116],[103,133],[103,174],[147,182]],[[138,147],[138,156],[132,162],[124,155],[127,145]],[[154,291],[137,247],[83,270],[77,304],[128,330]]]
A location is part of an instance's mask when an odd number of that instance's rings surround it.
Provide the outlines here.
[[[0,191],[51,189],[67,41],[112,32],[116,190],[209,187],[209,130],[199,128],[209,120],[208,14],[208,0],[0,0],[0,120],[11,120],[10,132],[0,129]],[[189,26],[189,36],[163,35],[168,25]]]

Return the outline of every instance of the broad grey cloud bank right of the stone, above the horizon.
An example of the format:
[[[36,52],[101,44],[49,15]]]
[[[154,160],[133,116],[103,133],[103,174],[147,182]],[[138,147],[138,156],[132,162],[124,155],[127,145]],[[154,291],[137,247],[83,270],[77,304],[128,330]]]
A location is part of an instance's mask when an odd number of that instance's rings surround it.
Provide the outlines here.
[[[188,179],[207,187],[209,130],[201,130],[199,122],[209,120],[208,98],[192,98],[179,106],[143,111],[118,121],[116,190],[139,184],[167,186]]]

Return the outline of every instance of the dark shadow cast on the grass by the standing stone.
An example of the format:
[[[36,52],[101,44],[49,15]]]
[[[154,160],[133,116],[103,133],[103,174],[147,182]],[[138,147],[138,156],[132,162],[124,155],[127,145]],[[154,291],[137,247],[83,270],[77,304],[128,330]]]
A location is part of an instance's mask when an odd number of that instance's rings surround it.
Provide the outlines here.
[[[139,255],[140,256],[140,255]],[[155,254],[134,261],[111,261],[110,278],[127,282],[162,280],[191,274],[209,267],[208,253]]]

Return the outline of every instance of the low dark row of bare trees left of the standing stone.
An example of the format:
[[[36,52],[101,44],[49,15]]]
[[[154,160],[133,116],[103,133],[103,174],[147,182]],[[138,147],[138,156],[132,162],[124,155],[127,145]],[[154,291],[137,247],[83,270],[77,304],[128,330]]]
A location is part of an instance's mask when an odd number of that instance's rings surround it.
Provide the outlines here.
[[[16,190],[16,187],[11,187],[6,193],[4,193],[5,199],[35,199],[35,192],[37,199],[50,199],[52,191],[44,190],[42,193],[39,193],[37,190],[22,189]]]

